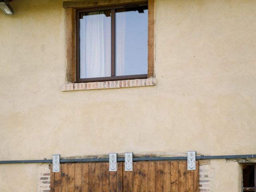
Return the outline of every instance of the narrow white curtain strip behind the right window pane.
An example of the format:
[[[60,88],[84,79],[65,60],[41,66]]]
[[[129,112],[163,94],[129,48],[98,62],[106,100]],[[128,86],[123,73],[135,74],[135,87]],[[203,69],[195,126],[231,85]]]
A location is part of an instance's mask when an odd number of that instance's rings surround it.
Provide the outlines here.
[[[126,12],[116,13],[116,76],[124,74]]]

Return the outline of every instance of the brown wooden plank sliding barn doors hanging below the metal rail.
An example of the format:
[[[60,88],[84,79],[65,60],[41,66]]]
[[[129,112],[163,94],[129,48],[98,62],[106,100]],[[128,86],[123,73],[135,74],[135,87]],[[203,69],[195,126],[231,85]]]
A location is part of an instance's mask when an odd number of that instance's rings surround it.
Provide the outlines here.
[[[187,170],[186,161],[134,162],[133,171],[109,172],[108,163],[61,164],[51,172],[51,192],[198,192],[199,165]]]

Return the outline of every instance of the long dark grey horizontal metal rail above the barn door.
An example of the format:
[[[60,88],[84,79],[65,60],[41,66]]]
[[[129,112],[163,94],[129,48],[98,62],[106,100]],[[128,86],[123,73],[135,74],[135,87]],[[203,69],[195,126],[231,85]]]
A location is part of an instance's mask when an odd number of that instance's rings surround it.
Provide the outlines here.
[[[255,155],[220,155],[220,156],[196,156],[196,160],[210,160],[210,159],[239,159],[239,158],[256,158]],[[133,161],[175,161],[187,160],[187,157],[134,157]],[[78,163],[78,162],[108,162],[109,158],[87,158],[87,159],[60,159],[60,163]],[[124,158],[117,158],[118,162],[124,162]],[[14,160],[14,161],[0,161],[0,164],[14,164],[14,163],[52,163],[51,159],[47,160]]]

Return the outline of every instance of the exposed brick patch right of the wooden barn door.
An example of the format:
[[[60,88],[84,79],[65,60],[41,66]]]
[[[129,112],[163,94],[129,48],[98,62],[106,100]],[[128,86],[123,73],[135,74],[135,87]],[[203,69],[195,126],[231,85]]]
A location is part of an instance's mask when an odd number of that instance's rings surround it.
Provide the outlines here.
[[[211,168],[210,160],[199,162],[199,191],[212,192],[212,178],[214,169]]]

